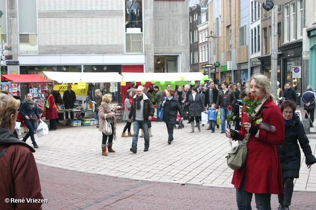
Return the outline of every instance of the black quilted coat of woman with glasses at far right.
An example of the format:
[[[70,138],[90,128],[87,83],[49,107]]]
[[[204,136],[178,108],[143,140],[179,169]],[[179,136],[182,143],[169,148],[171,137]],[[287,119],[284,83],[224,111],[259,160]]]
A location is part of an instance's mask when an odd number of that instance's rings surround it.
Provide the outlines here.
[[[280,147],[277,146],[283,180],[287,178],[299,178],[301,151],[297,140],[305,154],[305,163],[307,165],[316,163],[316,158],[312,154],[303,124],[300,118],[295,114],[293,121],[285,128],[284,144]]]

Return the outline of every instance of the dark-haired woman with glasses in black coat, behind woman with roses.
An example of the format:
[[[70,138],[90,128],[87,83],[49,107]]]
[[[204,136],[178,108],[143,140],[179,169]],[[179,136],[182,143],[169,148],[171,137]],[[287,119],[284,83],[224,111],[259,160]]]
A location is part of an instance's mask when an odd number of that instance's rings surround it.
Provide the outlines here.
[[[278,195],[279,210],[288,210],[291,205],[293,194],[294,178],[299,178],[301,166],[301,152],[297,140],[305,154],[305,163],[309,169],[316,163],[316,158],[312,154],[309,140],[305,134],[300,118],[294,113],[296,105],[294,101],[286,100],[281,104],[281,112],[284,118],[285,141],[277,151],[280,158],[284,194]]]

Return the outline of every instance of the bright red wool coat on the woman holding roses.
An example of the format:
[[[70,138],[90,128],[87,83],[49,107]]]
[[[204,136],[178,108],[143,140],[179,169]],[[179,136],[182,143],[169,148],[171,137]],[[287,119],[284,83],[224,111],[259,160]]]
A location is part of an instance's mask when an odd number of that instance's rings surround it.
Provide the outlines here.
[[[266,109],[261,116],[262,122],[275,126],[276,131],[271,133],[259,129],[259,138],[250,135],[246,163],[241,169],[234,171],[232,184],[239,189],[246,176],[244,190],[247,192],[282,194],[282,174],[276,146],[284,143],[284,120],[279,107],[270,98],[264,103],[258,115],[262,114],[264,107]],[[248,122],[248,116],[244,112],[241,115],[241,123],[243,122]],[[242,140],[247,134],[244,127],[238,132],[238,140]]]

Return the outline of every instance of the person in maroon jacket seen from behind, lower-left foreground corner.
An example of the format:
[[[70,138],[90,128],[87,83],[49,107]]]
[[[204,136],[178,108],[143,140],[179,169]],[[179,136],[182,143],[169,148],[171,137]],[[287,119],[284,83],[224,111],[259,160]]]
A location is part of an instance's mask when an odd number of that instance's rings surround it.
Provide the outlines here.
[[[33,95],[28,95],[32,96],[29,100],[32,101]],[[35,104],[25,102],[24,106]],[[41,210],[41,202],[26,202],[27,199],[39,201],[44,198],[40,193],[39,172],[32,153],[35,150],[14,135],[19,107],[19,100],[0,93],[0,153],[3,152],[0,155],[0,209]],[[24,111],[24,114],[31,113],[28,108]]]

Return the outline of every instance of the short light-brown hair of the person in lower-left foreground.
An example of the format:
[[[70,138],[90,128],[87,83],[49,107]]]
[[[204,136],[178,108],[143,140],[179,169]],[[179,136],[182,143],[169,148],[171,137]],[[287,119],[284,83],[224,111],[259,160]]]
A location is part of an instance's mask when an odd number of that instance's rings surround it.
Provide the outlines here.
[[[20,100],[0,93],[0,127],[7,128],[11,115],[17,116]]]

